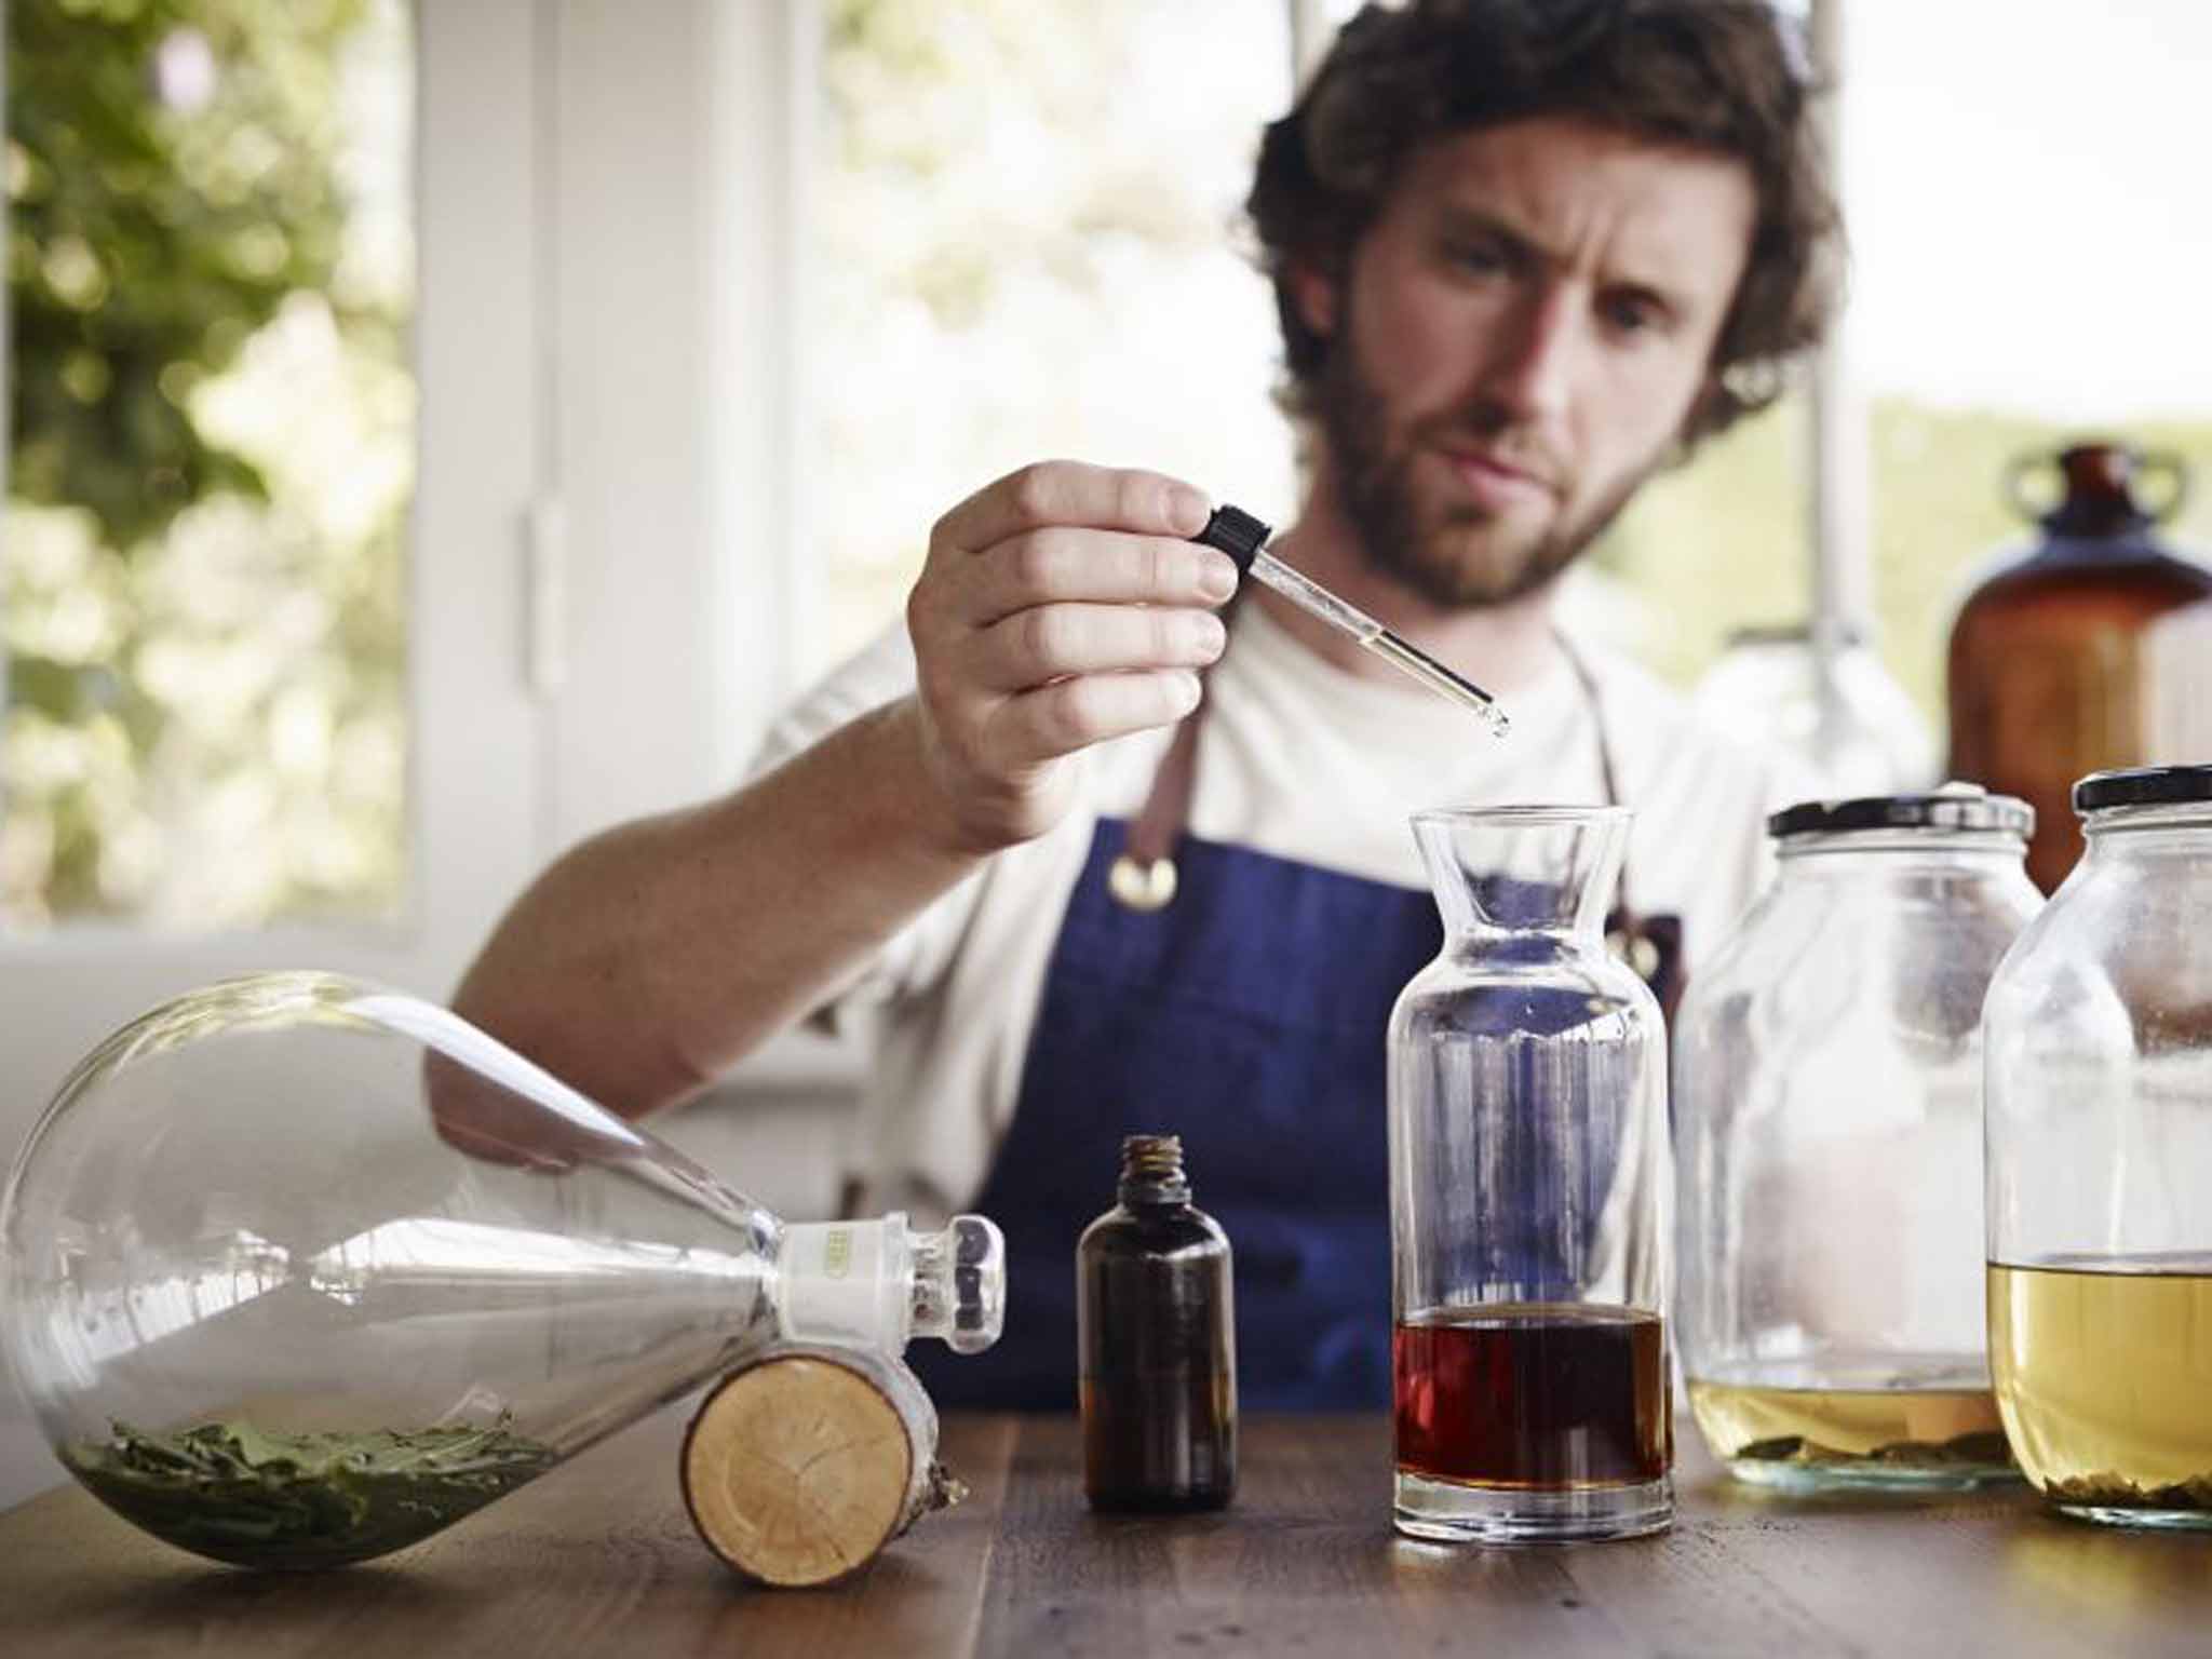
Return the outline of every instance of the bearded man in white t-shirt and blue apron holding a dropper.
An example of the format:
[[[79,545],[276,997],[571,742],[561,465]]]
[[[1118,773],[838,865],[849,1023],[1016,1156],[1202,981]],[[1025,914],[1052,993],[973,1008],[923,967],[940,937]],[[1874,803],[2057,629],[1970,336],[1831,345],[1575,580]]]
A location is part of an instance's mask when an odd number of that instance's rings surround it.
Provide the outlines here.
[[[1383,1022],[1438,942],[1407,812],[1619,799],[1639,911],[1710,949],[1750,898],[1761,763],[1551,608],[1818,336],[1807,97],[1747,0],[1422,0],[1354,18],[1267,133],[1250,208],[1310,462],[1276,551],[1500,692],[1511,739],[1272,593],[1223,628],[1194,487],[1029,467],[938,522],[905,628],[754,783],[562,858],[460,1011],[648,1110],[880,1004],[858,1203],[1009,1232],[1006,1340],[936,1369],[940,1402],[1073,1402],[1071,1254],[1133,1130],[1183,1135],[1230,1230],[1245,1400],[1378,1402]],[[1172,894],[1115,874],[1133,818]]]

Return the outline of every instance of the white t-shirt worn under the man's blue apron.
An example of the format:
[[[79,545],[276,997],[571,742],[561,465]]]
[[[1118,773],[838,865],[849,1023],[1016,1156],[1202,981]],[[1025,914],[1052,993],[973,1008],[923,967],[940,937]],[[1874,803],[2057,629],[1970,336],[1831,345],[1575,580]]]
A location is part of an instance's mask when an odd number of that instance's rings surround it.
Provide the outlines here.
[[[1628,896],[1641,914],[1681,916],[1694,967],[1763,880],[1763,818],[1794,799],[1792,776],[1778,757],[1699,726],[1641,668],[1588,646],[1579,657],[1597,681],[1621,805],[1637,812]],[[914,653],[894,628],[774,726],[754,774],[911,690]],[[1261,606],[1241,606],[1208,677],[1188,830],[1427,891],[1411,812],[1606,799],[1599,712],[1568,664],[1506,701],[1513,730],[1493,739],[1431,692],[1345,672]],[[849,1152],[865,1214],[940,1217],[982,1190],[1097,818],[1137,814],[1166,745],[1168,732],[1141,732],[1088,750],[1066,821],[993,856],[827,1004],[832,1015],[876,1004],[876,1064]]]

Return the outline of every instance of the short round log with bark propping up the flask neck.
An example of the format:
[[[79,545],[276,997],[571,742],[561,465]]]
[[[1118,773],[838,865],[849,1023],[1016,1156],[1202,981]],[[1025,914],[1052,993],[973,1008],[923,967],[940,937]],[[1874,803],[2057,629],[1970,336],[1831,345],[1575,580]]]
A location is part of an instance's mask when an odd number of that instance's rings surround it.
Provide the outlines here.
[[[792,1349],[730,1374],[684,1436],[684,1504],[723,1562],[774,1586],[863,1568],[942,1502],[936,1409],[876,1354]]]

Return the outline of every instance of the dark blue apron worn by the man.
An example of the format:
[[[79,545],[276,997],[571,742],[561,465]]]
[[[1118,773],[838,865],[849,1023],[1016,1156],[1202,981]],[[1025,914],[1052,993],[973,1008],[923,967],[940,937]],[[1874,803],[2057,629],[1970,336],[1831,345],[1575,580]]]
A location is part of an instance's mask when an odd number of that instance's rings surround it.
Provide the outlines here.
[[[1385,1031],[1442,945],[1427,889],[1183,836],[1175,902],[1108,894],[1106,818],[1060,929],[1013,1126],[971,1208],[1006,1234],[1006,1334],[909,1349],[942,1409],[1075,1409],[1075,1241],[1121,1137],[1183,1139],[1230,1234],[1250,1411],[1389,1402]]]

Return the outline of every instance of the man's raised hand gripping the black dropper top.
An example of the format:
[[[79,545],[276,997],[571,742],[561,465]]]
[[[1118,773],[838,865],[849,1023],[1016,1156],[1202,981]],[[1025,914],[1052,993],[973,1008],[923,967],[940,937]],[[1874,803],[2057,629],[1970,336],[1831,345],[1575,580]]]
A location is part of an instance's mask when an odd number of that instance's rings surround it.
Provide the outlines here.
[[[1206,498],[1144,471],[1048,460],[929,533],[907,599],[922,761],[947,841],[998,852],[1068,810],[1068,757],[1170,726],[1221,655],[1237,566],[1190,535]]]

